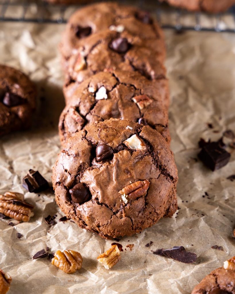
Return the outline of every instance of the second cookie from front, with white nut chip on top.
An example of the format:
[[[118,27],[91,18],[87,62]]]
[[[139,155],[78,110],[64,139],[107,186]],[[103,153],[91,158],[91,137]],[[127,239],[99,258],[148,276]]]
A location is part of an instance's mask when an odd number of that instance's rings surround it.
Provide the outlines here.
[[[59,121],[62,143],[85,126],[109,118],[150,125],[170,143],[166,79],[153,82],[135,71],[100,72],[70,88],[73,94]]]

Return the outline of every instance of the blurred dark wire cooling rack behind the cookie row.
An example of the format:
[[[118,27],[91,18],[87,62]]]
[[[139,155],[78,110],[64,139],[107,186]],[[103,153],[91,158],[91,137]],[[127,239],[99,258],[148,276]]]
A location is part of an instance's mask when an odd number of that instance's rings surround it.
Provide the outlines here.
[[[130,2],[130,4],[152,11],[163,28],[176,29],[177,31],[196,30],[235,33],[235,6],[226,13],[209,15],[174,9],[155,0],[120,0],[120,2]],[[0,21],[63,24],[81,6],[48,4],[43,0],[0,0]]]

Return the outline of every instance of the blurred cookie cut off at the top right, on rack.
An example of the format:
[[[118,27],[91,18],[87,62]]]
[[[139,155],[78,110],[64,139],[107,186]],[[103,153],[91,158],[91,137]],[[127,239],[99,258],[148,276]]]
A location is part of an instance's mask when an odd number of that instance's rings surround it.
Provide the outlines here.
[[[206,11],[219,13],[226,11],[235,4],[235,0],[160,0],[166,1],[171,5],[191,11]]]

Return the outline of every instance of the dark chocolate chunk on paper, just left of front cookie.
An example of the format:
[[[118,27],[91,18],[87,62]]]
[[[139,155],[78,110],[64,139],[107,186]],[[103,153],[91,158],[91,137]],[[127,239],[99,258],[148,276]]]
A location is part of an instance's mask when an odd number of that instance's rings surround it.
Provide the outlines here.
[[[30,193],[38,193],[48,189],[49,184],[38,171],[30,169],[23,178],[23,187]]]

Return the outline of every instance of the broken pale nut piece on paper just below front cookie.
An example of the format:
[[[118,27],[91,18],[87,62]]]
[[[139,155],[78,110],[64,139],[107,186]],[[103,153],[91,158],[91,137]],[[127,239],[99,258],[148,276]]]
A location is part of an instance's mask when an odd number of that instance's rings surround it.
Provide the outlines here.
[[[106,270],[112,268],[120,260],[120,251],[117,245],[113,245],[105,253],[97,257],[98,262],[102,263]]]

